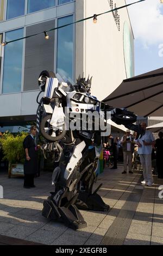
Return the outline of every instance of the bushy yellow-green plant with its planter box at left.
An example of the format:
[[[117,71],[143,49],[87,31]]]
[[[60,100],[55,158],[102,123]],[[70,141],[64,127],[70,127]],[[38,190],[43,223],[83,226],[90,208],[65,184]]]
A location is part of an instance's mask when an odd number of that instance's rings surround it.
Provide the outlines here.
[[[23,140],[27,136],[27,132],[20,132],[17,135],[12,133],[4,133],[0,139],[4,160],[8,160],[9,169],[8,176],[11,175],[23,176],[23,163],[25,160]]]

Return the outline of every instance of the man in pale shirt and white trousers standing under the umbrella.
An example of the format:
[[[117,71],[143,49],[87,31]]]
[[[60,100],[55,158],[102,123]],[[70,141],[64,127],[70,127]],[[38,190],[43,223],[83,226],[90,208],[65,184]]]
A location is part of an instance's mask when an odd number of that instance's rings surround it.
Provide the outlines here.
[[[141,181],[142,184],[147,186],[153,185],[153,176],[152,176],[152,147],[154,145],[154,137],[151,131],[146,130],[147,124],[141,124],[142,129],[145,130],[144,135],[140,135],[137,139],[138,151],[137,154],[140,156],[140,161],[143,168],[143,178]]]

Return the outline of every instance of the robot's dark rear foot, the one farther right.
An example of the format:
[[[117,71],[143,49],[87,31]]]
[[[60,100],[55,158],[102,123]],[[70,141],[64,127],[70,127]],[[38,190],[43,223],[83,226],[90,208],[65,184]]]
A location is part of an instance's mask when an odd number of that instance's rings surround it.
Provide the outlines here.
[[[110,206],[105,204],[101,196],[96,192],[89,194],[85,191],[80,191],[76,206],[80,210],[93,210],[93,211],[108,211]]]

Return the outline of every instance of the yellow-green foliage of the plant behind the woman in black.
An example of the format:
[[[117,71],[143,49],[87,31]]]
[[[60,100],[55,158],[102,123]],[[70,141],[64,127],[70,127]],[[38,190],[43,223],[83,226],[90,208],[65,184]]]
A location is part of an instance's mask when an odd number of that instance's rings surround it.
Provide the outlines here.
[[[0,143],[4,159],[7,159],[10,163],[24,163],[23,140],[27,135],[27,132],[20,132],[16,136],[9,132],[3,134]]]

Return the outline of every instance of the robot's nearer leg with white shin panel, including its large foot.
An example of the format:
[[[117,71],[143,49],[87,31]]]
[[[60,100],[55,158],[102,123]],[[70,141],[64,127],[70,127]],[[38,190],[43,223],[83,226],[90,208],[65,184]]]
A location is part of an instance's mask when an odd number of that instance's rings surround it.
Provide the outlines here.
[[[87,226],[77,206],[74,205],[78,198],[77,185],[80,180],[78,170],[84,148],[85,142],[80,142],[75,147],[74,145],[65,147],[60,159],[60,167],[55,168],[53,173],[54,192],[51,192],[51,196],[43,202],[44,217],[64,222],[73,229]]]

